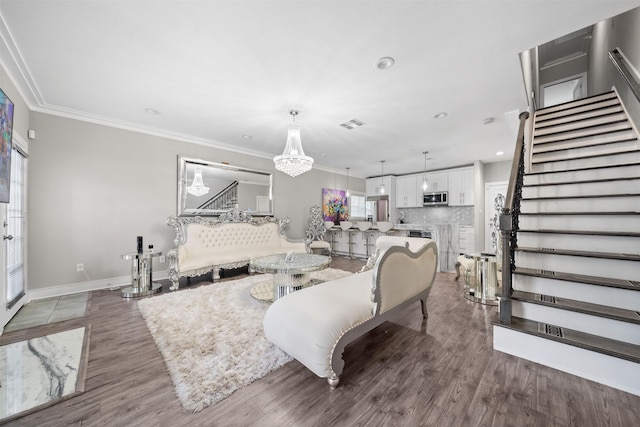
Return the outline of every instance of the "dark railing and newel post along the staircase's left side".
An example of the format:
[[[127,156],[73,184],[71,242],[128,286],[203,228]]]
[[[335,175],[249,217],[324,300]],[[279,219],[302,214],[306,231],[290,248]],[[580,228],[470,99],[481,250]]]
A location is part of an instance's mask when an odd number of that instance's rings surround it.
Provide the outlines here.
[[[522,198],[522,185],[524,180],[525,157],[525,127],[529,112],[520,113],[520,128],[516,140],[516,149],[511,164],[509,187],[505,198],[504,207],[500,214],[500,235],[502,244],[502,295],[500,297],[500,322],[511,323],[511,278],[515,268],[515,249],[518,247],[517,231],[520,215],[520,200]]]

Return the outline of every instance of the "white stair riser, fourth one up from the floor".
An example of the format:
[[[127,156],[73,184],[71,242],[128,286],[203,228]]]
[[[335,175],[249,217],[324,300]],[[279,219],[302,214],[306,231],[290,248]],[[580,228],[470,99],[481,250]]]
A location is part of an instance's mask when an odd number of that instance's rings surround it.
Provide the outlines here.
[[[640,261],[516,252],[516,266],[620,280],[637,280]]]

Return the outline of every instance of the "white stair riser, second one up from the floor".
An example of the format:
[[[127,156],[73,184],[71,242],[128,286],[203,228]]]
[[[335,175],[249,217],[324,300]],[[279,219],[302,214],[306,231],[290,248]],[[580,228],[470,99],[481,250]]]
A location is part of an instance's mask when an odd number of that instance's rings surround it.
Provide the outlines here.
[[[562,310],[541,304],[513,300],[512,315],[549,325],[569,328],[585,334],[611,338],[629,344],[640,345],[640,325],[604,317],[591,316],[570,310]]]

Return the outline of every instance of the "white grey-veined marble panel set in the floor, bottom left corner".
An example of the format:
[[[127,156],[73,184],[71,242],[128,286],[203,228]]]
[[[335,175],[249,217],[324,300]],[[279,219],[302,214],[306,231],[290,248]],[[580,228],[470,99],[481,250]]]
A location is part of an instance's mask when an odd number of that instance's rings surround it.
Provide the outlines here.
[[[0,423],[77,390],[85,328],[0,347]]]

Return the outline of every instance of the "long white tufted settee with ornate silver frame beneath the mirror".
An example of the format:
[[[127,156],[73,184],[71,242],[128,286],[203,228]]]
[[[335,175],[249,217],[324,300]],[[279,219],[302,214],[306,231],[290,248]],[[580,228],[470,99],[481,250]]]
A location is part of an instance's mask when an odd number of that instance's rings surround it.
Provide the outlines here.
[[[176,247],[167,253],[170,289],[178,289],[180,277],[212,271],[215,280],[221,268],[242,267],[266,255],[307,252],[303,240],[293,241],[284,235],[288,223],[289,219],[273,217],[253,219],[241,211],[218,219],[169,217],[167,225],[176,231]]]

